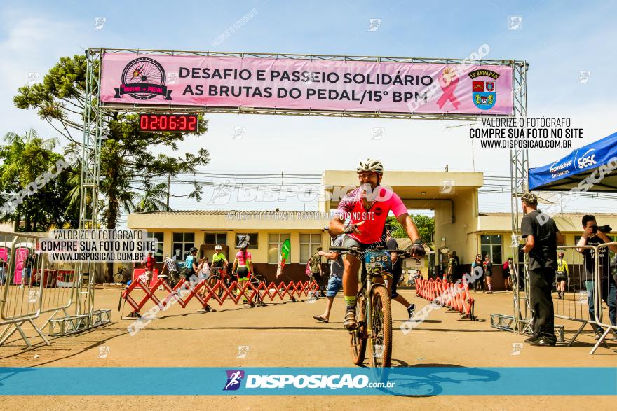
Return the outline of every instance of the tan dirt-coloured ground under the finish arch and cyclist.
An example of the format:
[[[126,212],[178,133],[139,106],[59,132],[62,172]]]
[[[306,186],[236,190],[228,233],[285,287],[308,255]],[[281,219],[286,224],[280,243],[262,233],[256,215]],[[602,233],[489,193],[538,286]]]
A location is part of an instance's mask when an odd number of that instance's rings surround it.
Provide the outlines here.
[[[349,336],[342,328],[344,301],[334,301],[330,323],[319,323],[312,317],[322,314],[325,298],[316,302],[268,303],[266,307],[242,307],[226,302],[217,312],[199,312],[193,301],[185,309],[174,305],[134,336],[117,311],[119,287],[96,291],[96,306],[112,309],[112,323],[80,335],[52,339],[46,346],[37,344],[25,349],[19,337],[0,347],[1,367],[262,367],[262,366],[352,366]],[[416,309],[427,305],[415,297],[414,291],[401,291]],[[160,293],[163,298],[165,293]],[[447,308],[435,310],[419,328],[404,335],[400,325],[405,321],[405,308],[393,302],[393,366],[449,365],[465,367],[617,367],[617,342],[600,347],[588,355],[595,344],[590,329],[578,337],[572,347],[558,344],[555,348],[531,347],[523,344],[518,354],[513,344],[524,336],[490,327],[491,313],[512,312],[511,294],[475,293],[475,314],[479,321],[461,319]],[[145,305],[146,309],[152,303]],[[128,314],[128,305],[123,314]],[[144,310],[145,311],[145,310]],[[559,320],[569,339],[578,323]],[[238,357],[238,346],[248,346],[245,358]],[[106,358],[100,347],[109,347]],[[105,349],[107,351],[107,349]],[[187,355],[192,353],[191,355]],[[514,355],[513,355],[514,354]],[[36,357],[36,358],[35,358]],[[576,375],[572,375],[576,378]],[[1,390],[1,389],[0,389]],[[1,393],[1,392],[0,392]],[[508,387],[503,387],[508,393]],[[615,397],[595,396],[595,407],[613,408]],[[206,409],[333,409],[345,407],[377,409],[388,406],[413,405],[418,409],[451,409],[453,404],[487,410],[571,409],[588,405],[583,396],[433,396],[407,398],[398,396],[0,396],[3,410],[15,410],[27,404],[33,410],[99,410],[111,407],[140,407],[149,410]],[[276,405],[273,405],[276,404]]]

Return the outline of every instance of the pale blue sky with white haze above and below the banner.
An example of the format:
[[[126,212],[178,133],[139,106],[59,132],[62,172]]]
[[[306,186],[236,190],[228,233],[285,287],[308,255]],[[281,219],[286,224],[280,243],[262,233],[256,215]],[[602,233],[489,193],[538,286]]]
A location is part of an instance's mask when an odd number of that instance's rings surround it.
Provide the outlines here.
[[[27,72],[41,77],[59,57],[87,47],[219,50],[341,55],[464,58],[482,44],[487,58],[529,62],[530,116],[570,117],[583,127],[583,146],[616,130],[616,4],[575,1],[4,1],[0,5],[0,133],[53,130],[34,112],[13,108]],[[257,14],[218,46],[212,41],[255,9]],[[508,29],[508,16],[522,17]],[[106,19],[95,29],[95,18]],[[379,18],[377,31],[369,20]],[[590,71],[579,83],[579,71]],[[208,171],[320,173],[350,169],[372,156],[387,169],[471,170],[508,174],[508,151],[473,150],[468,127],[421,120],[210,116],[210,130],[181,151],[208,148]],[[245,138],[232,140],[234,127]],[[372,129],[385,137],[371,140]],[[285,142],[290,149],[276,153]],[[334,143],[334,144],[333,144]],[[532,167],[567,149],[530,153]],[[245,157],[239,160],[240,157]],[[601,204],[601,203],[598,203]],[[582,204],[579,204],[582,205]],[[206,208],[187,200],[175,207]],[[293,206],[293,207],[292,207]],[[576,207],[573,205],[572,207]],[[596,211],[603,211],[601,206]],[[290,204],[290,208],[298,208]],[[483,195],[481,209],[509,211],[507,196]],[[605,210],[607,211],[607,210]]]

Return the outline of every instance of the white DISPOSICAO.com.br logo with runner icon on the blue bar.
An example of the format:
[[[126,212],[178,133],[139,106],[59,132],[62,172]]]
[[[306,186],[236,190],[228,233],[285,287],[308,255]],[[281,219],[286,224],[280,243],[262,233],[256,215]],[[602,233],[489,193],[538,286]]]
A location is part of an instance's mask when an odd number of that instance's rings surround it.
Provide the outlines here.
[[[236,390],[244,373],[238,375],[240,370],[227,370],[227,384],[224,391]],[[233,383],[233,386],[230,384]],[[392,388],[393,382],[370,382],[367,375],[351,374],[314,374],[314,375],[246,375],[245,389],[370,389]]]

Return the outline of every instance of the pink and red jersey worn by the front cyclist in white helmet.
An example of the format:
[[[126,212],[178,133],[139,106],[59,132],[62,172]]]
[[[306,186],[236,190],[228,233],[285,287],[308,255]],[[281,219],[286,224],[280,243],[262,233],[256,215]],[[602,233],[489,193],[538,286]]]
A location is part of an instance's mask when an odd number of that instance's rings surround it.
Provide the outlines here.
[[[362,244],[372,244],[379,241],[384,234],[384,225],[386,225],[388,212],[392,211],[397,217],[401,214],[407,214],[407,207],[392,190],[377,186],[374,192],[375,201],[369,209],[365,209],[362,205],[363,192],[361,187],[348,193],[337,208],[337,215],[340,218],[351,217],[349,221],[351,224],[364,221],[364,224],[358,227],[360,234],[348,234],[349,237]]]

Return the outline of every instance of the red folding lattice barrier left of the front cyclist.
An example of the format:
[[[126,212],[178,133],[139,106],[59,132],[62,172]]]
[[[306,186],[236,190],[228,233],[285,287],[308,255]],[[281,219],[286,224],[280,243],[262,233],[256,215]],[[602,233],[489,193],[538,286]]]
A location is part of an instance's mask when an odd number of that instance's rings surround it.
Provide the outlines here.
[[[141,271],[143,272],[144,270]],[[253,303],[263,302],[266,297],[270,298],[270,301],[273,301],[275,298],[283,299],[285,298],[285,295],[288,295],[290,298],[294,299],[295,297],[301,297],[302,295],[308,296],[309,292],[319,290],[319,286],[316,281],[297,281],[295,284],[293,281],[290,281],[287,284],[280,283],[278,285],[270,283],[268,286],[266,286],[264,281],[262,281],[257,287],[255,287],[250,281],[245,281],[242,286],[238,284],[237,281],[233,281],[229,284],[229,287],[226,286],[223,280],[217,281],[214,286],[210,286],[207,281],[208,280],[203,279],[191,287],[191,284],[186,279],[181,279],[172,289],[165,278],[154,277],[148,287],[144,284],[144,280],[137,276],[135,277],[135,280],[132,281],[131,284],[129,284],[129,286],[122,292],[122,299],[128,302],[128,305],[133,308],[133,312],[131,314],[135,315],[139,314],[140,310],[144,307],[148,300],[151,300],[154,304],[158,305],[160,309],[163,309],[166,305],[170,305],[175,302],[177,302],[177,304],[179,304],[182,308],[187,307],[189,301],[195,298],[201,306],[205,308],[208,306],[208,302],[210,300],[218,302],[219,305],[222,305],[227,299],[232,300],[234,304],[238,304],[241,299],[248,300]],[[163,289],[168,293],[165,295],[163,300],[159,300],[155,295],[159,287],[163,287]],[[203,288],[205,288],[205,296],[202,297],[201,291]],[[139,289],[144,291],[144,296],[139,302],[137,302],[131,294],[135,293],[135,290]],[[220,297],[218,295],[219,290],[222,291]],[[175,302],[172,302],[172,300],[175,300]]]

